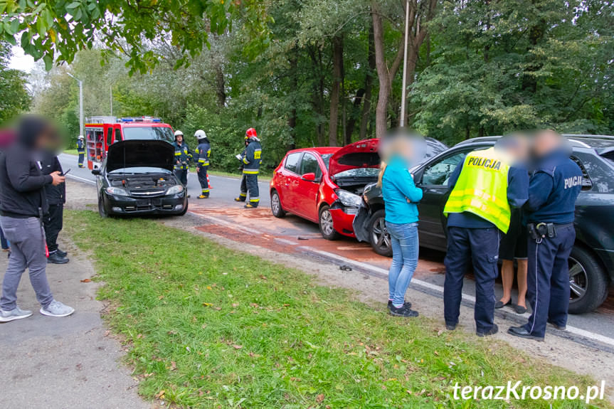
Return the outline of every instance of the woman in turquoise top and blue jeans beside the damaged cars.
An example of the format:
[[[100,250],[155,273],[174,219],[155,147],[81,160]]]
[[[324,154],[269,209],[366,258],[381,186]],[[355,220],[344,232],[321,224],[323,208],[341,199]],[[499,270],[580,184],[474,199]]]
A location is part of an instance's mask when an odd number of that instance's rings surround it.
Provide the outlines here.
[[[405,293],[418,267],[418,206],[422,189],[415,187],[409,173],[412,144],[395,143],[388,147],[380,171],[381,191],[386,204],[386,229],[392,245],[392,265],[388,272],[388,310],[400,317],[418,317],[405,302]]]

